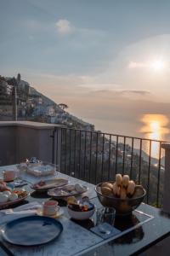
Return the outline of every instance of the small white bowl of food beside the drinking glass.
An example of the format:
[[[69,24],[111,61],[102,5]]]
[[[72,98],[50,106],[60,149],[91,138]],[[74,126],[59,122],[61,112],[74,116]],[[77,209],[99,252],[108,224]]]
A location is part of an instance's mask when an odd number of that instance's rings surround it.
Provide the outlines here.
[[[71,218],[83,220],[83,219],[88,219],[94,215],[95,207],[86,212],[78,212],[78,211],[72,210],[71,207],[67,206],[67,211],[68,211],[69,215],[71,216]]]

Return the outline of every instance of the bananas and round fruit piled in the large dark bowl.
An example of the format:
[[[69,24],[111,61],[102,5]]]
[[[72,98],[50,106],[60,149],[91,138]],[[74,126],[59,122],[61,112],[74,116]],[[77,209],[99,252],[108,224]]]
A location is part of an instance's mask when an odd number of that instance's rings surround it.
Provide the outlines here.
[[[128,175],[123,175],[120,173],[116,174],[116,182],[105,182],[101,184],[101,194],[110,197],[118,197],[122,200],[126,198],[131,198],[137,195],[136,190],[139,186],[136,186],[133,180],[129,180]],[[141,187],[141,186],[140,186]],[[141,189],[139,189],[141,193]]]

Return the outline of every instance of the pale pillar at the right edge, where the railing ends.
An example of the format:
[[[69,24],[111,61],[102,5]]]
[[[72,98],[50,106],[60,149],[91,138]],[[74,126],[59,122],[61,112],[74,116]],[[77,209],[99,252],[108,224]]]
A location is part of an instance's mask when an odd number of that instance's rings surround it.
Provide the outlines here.
[[[161,148],[165,149],[165,172],[164,172],[164,187],[163,187],[163,212],[170,213],[170,144],[161,143]]]

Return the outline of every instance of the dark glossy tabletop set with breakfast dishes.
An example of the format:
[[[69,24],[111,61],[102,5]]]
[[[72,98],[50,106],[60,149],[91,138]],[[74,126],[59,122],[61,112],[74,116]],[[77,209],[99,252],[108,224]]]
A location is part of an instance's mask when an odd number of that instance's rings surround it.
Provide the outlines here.
[[[0,167],[0,173],[4,168],[8,169],[11,168],[11,166]],[[82,183],[83,185],[87,185],[89,188],[87,192],[88,197],[95,203],[95,205],[98,207],[100,206],[93,184],[86,183],[74,177],[68,177],[62,173],[59,173],[58,176],[69,178],[71,183]],[[37,181],[37,177],[26,177],[26,179],[29,183]],[[25,189],[31,192],[31,196],[28,198],[28,201],[30,202],[42,202],[48,200],[48,195],[40,195],[33,192],[29,184],[25,186]],[[82,227],[80,224],[73,222],[66,212],[65,204],[60,202],[60,206],[65,210],[65,214],[63,218],[59,218],[59,221],[64,226],[64,231],[59,237],[59,240],[40,247],[26,248],[9,245],[1,238],[0,246],[2,247],[2,250],[4,249],[8,255],[16,256],[27,256],[30,254],[32,256],[137,255],[170,234],[169,216],[161,212],[160,209],[150,207],[144,203],[139,206],[138,210],[152,216],[153,218],[150,218],[149,221],[144,222],[142,225],[136,226],[134,230],[129,231],[121,237],[111,237],[106,240],[92,233],[87,229],[87,227]],[[138,214],[140,214],[140,212]],[[3,253],[1,253],[1,255],[3,255]]]

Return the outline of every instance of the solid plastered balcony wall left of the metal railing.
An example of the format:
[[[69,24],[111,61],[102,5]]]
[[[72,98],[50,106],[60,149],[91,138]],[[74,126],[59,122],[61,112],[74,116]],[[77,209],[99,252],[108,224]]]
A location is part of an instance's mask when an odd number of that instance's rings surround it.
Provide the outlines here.
[[[29,121],[0,122],[0,166],[20,163],[36,156],[44,161],[52,160],[52,138],[54,127]]]

